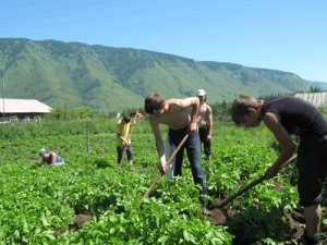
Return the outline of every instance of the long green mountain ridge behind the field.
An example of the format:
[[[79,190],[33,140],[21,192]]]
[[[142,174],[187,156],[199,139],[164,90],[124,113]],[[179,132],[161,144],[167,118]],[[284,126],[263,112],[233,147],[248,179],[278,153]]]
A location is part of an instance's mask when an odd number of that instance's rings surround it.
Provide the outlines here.
[[[143,107],[150,91],[183,98],[204,88],[208,102],[215,103],[239,94],[291,94],[311,86],[288,72],[56,40],[0,38],[1,64],[7,98],[99,111]]]

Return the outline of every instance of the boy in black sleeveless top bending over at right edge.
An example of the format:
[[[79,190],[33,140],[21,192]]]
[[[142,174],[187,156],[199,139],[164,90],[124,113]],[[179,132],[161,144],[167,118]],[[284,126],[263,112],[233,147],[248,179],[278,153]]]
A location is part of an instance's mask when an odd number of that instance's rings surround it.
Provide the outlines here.
[[[291,135],[300,137],[296,168],[300,205],[304,207],[305,232],[299,245],[319,244],[323,182],[327,175],[327,121],[311,103],[291,96],[257,100],[239,96],[232,103],[237,125],[253,127],[263,121],[281,145],[279,157],[266,170],[266,180],[277,175],[296,150]]]

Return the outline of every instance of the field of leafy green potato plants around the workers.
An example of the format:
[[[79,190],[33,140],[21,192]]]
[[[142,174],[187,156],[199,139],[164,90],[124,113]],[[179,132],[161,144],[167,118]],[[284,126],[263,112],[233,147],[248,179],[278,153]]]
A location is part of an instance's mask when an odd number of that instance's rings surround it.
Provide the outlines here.
[[[122,168],[117,163],[116,120],[5,124],[0,135],[0,244],[295,242],[281,219],[298,204],[293,166],[229,204],[237,215],[217,224],[203,215],[186,158],[183,176],[172,182],[161,177],[142,200],[158,174],[146,120],[137,121],[133,131],[134,163],[125,161]],[[261,177],[278,150],[265,128],[223,123],[215,124],[211,145],[213,160],[203,166],[213,200]],[[39,168],[44,147],[66,164]],[[274,188],[276,182],[282,191]],[[86,219],[78,224],[81,217]],[[323,222],[327,224],[326,215]]]

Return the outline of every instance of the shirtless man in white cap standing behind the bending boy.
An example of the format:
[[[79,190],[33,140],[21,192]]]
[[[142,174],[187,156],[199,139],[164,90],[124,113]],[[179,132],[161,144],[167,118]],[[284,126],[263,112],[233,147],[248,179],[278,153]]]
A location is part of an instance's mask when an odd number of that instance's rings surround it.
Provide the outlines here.
[[[198,89],[197,97],[199,99],[198,134],[201,143],[204,146],[206,160],[209,161],[211,159],[213,110],[206,103],[207,95],[204,89]]]

